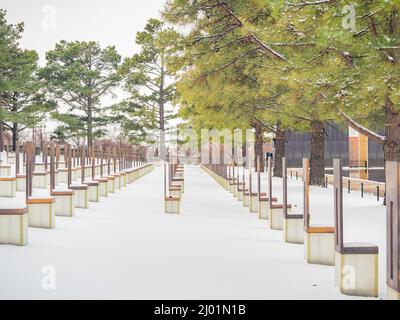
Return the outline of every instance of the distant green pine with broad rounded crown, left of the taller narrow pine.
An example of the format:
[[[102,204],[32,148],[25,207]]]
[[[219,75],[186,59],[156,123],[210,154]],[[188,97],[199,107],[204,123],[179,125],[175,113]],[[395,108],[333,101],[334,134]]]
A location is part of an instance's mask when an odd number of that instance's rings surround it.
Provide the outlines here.
[[[61,41],[46,59],[41,77],[47,81],[52,97],[67,108],[67,113],[59,108],[57,120],[65,121],[69,130],[84,130],[92,145],[109,122],[101,98],[120,81],[121,56],[115,47],[102,49],[96,42]],[[73,126],[68,125],[72,118]]]

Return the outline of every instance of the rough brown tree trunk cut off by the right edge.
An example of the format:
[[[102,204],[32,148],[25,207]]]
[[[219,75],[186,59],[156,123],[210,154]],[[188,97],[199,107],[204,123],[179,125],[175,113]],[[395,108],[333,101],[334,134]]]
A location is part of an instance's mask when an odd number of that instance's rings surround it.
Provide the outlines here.
[[[396,111],[389,98],[385,102],[385,161],[400,161],[400,112]]]

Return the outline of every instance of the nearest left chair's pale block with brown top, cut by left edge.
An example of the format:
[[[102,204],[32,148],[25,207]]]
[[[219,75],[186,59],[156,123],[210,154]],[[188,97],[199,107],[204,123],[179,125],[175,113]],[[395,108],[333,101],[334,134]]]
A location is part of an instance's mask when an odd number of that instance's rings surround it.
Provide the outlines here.
[[[28,244],[28,209],[0,209],[0,244]]]

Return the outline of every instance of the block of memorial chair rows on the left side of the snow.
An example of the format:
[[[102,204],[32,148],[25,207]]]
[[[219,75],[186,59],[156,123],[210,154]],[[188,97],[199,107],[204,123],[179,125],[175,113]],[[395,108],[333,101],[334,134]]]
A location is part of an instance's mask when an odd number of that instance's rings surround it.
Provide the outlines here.
[[[153,164],[133,161],[125,151],[111,159],[94,148],[49,143],[40,154],[42,162],[33,143],[24,145],[23,155],[18,151],[7,156],[16,174],[0,177],[0,189],[8,179],[15,182],[9,188],[17,193],[14,200],[0,199],[0,244],[27,245],[29,227],[54,229],[57,216],[73,217],[75,208],[89,209],[89,202],[99,202],[154,169]],[[25,199],[19,197],[22,192]]]

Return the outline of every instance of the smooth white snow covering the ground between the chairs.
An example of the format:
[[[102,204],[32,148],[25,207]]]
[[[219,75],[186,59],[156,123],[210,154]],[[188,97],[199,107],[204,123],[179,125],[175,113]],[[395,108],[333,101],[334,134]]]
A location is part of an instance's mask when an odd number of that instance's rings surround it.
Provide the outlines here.
[[[280,179],[274,193],[281,200]],[[385,208],[372,196],[344,197],[345,241],[379,245],[384,298]],[[289,179],[289,202],[301,213],[300,180]],[[333,225],[332,189],[311,188],[310,202],[312,223]],[[55,230],[30,228],[27,247],[0,246],[0,298],[355,298],[337,291],[334,267],[307,264],[302,245],[284,243],[199,167],[185,169],[181,211],[162,213],[158,167],[74,218],[57,217]],[[44,266],[55,268],[55,290],[42,288]]]

